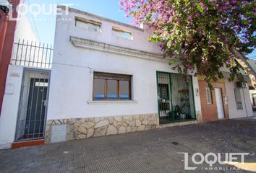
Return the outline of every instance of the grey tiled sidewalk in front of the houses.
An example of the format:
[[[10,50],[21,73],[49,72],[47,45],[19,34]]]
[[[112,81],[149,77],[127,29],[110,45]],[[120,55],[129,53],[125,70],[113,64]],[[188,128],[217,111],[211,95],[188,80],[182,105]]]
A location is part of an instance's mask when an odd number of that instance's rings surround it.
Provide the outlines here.
[[[185,172],[178,152],[247,152],[245,162],[256,162],[256,123],[222,120],[2,150],[0,172]],[[208,172],[207,164],[196,166]]]

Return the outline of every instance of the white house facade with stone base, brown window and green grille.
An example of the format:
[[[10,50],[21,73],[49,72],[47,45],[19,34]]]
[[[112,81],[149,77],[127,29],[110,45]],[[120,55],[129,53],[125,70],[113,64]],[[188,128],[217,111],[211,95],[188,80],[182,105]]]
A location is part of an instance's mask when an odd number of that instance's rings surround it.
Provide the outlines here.
[[[147,25],[134,27],[76,9],[69,9],[68,15],[61,11],[46,142],[200,119],[197,78],[191,76],[187,83],[171,70],[158,45],[148,42],[151,33]],[[174,107],[175,115],[171,112]]]

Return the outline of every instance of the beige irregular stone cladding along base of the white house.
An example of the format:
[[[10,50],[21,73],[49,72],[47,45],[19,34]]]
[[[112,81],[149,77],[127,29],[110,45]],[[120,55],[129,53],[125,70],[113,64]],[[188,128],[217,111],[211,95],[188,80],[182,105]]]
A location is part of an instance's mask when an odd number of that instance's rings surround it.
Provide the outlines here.
[[[51,125],[67,124],[66,140],[109,136],[159,128],[158,114],[123,115],[114,117],[72,118],[48,120],[46,123],[46,143],[50,143]]]

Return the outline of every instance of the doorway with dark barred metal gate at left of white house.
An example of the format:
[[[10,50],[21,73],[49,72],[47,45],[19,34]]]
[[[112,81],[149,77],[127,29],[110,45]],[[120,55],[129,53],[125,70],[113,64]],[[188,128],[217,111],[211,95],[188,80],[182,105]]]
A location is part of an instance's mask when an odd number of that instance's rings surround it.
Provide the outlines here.
[[[16,141],[44,138],[49,71],[25,69]]]

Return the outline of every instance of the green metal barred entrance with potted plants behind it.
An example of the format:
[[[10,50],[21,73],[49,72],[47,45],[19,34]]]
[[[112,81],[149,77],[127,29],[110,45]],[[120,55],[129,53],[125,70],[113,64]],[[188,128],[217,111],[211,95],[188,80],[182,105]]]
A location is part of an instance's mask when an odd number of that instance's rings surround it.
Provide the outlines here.
[[[192,76],[157,71],[160,123],[196,120]]]

